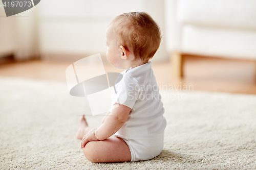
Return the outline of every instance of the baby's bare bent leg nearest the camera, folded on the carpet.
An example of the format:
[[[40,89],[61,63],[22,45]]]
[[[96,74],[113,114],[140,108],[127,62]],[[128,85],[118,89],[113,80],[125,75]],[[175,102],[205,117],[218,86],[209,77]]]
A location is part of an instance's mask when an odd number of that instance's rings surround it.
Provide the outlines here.
[[[101,141],[90,141],[83,148],[83,154],[91,162],[126,162],[132,156],[127,144],[119,137],[111,136]]]

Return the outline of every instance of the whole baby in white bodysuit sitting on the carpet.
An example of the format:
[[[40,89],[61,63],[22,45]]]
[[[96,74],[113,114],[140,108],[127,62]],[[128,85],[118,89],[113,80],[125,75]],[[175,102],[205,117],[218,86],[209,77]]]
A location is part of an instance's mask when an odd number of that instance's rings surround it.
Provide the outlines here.
[[[106,30],[106,58],[114,67],[125,70],[101,125],[92,129],[84,116],[79,119],[77,138],[82,139],[84,156],[91,162],[147,160],[161,153],[166,120],[148,61],[160,40],[157,23],[145,12],[121,14]]]

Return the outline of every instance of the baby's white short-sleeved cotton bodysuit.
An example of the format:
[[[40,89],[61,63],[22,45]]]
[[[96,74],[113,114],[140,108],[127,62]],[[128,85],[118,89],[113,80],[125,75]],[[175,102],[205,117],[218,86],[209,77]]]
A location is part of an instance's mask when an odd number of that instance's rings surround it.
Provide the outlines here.
[[[119,103],[131,108],[126,122],[114,134],[128,145],[131,161],[154,158],[163,149],[166,120],[151,66],[149,61],[121,72],[122,80],[115,85],[116,92],[111,96],[112,106]]]

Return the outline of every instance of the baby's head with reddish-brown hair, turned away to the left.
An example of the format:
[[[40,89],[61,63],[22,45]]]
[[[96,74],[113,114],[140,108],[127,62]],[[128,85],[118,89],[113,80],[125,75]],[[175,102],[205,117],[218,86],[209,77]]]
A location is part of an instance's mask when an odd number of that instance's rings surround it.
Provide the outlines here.
[[[151,59],[161,41],[160,28],[145,12],[117,16],[106,30],[106,58],[115,67],[128,69]]]

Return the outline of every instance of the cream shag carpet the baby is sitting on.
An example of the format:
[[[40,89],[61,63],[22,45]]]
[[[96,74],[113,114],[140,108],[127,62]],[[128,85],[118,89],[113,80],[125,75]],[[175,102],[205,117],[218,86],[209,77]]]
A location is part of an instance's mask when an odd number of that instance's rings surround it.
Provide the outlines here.
[[[75,137],[77,115],[89,114],[86,98],[69,95],[64,82],[2,77],[0,168],[256,168],[256,95],[203,91],[161,94],[166,98],[167,127],[164,149],[158,157],[139,162],[91,163]],[[168,100],[168,96],[173,99]],[[186,99],[180,100],[182,97]],[[97,126],[102,117],[87,119],[89,125]]]

